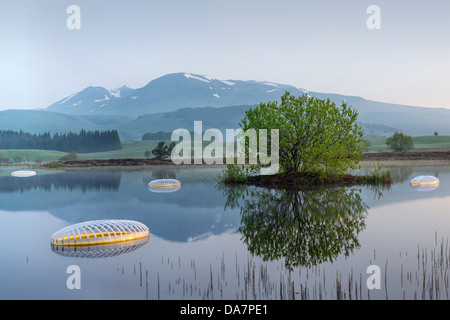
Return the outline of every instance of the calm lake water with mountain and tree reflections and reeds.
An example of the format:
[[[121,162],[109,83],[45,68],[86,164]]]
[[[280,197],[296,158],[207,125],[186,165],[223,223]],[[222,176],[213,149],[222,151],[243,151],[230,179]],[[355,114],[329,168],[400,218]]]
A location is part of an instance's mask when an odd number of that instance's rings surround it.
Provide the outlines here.
[[[398,182],[388,189],[292,193],[218,187],[214,168],[30,178],[1,168],[0,298],[448,299],[450,167],[389,170]],[[438,177],[439,188],[412,189],[417,175]],[[150,192],[159,178],[181,189]],[[150,237],[124,248],[51,247],[55,231],[99,219],[139,221]],[[67,286],[72,265],[79,290]]]

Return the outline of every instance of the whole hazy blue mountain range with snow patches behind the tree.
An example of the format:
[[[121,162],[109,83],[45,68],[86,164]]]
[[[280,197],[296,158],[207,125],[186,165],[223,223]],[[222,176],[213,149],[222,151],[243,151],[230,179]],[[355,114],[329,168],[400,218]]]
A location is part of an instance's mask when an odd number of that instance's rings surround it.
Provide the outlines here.
[[[402,131],[412,136],[450,135],[450,110],[366,100],[356,96],[307,91],[291,85],[253,80],[218,80],[191,73],[173,73],[138,89],[88,87],[43,110],[0,112],[0,130],[32,133],[117,129],[123,140],[140,140],[144,133],[192,130],[195,120],[205,128],[239,128],[245,110],[262,102],[279,101],[289,91],[346,102],[371,136]]]

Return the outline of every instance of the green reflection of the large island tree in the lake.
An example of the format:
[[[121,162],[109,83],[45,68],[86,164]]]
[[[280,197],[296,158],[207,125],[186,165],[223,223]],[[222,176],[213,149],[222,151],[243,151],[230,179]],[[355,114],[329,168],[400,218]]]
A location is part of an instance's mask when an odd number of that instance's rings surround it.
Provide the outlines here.
[[[220,186],[226,208],[240,207],[243,241],[265,261],[314,266],[360,247],[368,206],[359,189],[302,191]]]

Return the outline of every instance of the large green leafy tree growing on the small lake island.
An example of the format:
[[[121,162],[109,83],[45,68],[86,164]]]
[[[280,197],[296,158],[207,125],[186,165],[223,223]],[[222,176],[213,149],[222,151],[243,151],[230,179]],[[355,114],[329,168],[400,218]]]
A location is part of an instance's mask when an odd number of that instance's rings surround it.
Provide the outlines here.
[[[346,103],[286,92],[278,102],[262,103],[246,112],[242,129],[279,129],[281,173],[343,174],[356,168],[367,151],[358,112]],[[268,148],[270,149],[270,148]]]

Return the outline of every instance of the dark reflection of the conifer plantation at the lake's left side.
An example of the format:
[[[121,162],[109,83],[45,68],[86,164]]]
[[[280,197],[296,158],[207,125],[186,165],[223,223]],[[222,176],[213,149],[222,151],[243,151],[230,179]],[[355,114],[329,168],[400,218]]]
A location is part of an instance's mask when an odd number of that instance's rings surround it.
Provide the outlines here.
[[[121,172],[105,171],[92,174],[89,171],[61,172],[36,175],[30,178],[12,176],[0,177],[0,193],[25,192],[30,190],[81,190],[117,191],[120,186]]]

